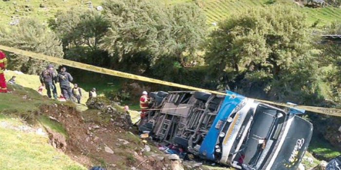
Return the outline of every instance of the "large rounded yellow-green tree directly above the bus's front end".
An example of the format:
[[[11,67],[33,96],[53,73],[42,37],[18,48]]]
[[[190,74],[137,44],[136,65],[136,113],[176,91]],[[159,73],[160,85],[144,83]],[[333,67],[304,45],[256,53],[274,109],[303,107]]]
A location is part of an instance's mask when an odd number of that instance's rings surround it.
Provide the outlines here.
[[[206,61],[216,72],[270,68],[276,77],[310,48],[305,23],[305,16],[287,6],[251,8],[210,34]]]

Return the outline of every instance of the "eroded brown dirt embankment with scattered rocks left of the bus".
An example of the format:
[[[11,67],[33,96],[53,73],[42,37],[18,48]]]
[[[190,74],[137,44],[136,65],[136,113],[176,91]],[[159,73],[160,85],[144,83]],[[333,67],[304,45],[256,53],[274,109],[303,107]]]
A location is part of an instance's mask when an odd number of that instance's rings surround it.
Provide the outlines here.
[[[44,105],[38,114],[58,121],[68,136],[46,128],[50,143],[72,159],[87,166],[107,170],[174,170],[179,160],[171,161],[132,131],[130,116],[112,106],[78,112],[65,105]],[[96,119],[95,119],[96,118]],[[129,120],[128,120],[129,119]],[[129,131],[130,130],[130,131]],[[183,170],[182,165],[177,166]]]

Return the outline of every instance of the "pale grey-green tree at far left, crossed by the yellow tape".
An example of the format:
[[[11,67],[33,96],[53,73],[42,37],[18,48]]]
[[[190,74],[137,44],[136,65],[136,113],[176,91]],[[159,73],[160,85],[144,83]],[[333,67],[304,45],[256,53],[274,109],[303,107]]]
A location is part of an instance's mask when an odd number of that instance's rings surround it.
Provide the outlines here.
[[[17,26],[1,28],[0,44],[50,56],[63,57],[61,42],[57,35],[36,18],[23,18]],[[12,70],[38,74],[45,69],[47,64],[49,64],[47,61],[13,53],[9,54],[8,68]]]

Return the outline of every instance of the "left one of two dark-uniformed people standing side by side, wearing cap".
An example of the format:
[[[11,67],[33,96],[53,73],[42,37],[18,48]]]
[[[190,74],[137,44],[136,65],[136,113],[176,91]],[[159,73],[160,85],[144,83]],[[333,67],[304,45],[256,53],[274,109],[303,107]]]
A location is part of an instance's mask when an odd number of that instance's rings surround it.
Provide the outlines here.
[[[54,83],[54,80],[56,78],[56,74],[54,71],[54,66],[52,64],[47,65],[46,69],[41,72],[39,79],[41,85],[45,86],[47,90],[47,96],[51,99],[51,91],[53,93],[53,97],[55,100],[57,100],[57,88]]]

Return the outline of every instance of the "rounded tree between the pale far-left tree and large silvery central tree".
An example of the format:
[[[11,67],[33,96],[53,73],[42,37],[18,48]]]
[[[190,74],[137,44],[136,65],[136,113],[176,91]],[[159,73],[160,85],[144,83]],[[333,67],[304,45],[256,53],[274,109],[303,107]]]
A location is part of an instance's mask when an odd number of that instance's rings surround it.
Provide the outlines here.
[[[61,37],[64,48],[87,46],[92,51],[98,50],[109,24],[99,12],[81,8],[58,11],[49,21],[51,29]]]

